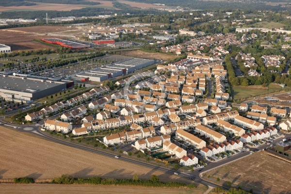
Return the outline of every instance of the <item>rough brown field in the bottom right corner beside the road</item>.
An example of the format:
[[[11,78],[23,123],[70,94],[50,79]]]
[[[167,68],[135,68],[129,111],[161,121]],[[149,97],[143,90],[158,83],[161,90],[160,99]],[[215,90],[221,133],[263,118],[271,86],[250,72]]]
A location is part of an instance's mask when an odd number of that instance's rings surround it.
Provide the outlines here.
[[[272,194],[290,194],[291,165],[269,156],[267,152],[251,156],[211,170],[207,174],[224,181],[231,181],[254,191]],[[289,188],[289,189],[288,189]]]

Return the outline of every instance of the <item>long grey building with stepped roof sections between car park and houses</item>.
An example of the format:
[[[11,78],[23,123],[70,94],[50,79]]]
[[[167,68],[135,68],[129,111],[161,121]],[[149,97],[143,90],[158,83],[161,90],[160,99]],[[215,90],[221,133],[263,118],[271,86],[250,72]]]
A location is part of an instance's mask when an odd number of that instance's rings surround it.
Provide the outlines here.
[[[144,68],[149,65],[155,64],[154,60],[149,59],[129,59],[127,61],[119,62],[113,65],[91,69],[77,74],[77,79],[87,79],[90,81],[105,81],[110,78],[126,75],[135,70]]]

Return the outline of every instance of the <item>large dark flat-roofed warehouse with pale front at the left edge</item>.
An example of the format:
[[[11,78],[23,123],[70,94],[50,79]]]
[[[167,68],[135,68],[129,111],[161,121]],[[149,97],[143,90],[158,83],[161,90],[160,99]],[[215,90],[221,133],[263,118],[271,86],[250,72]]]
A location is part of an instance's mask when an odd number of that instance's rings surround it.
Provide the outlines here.
[[[63,91],[73,85],[74,82],[48,81],[3,75],[0,77],[0,97],[6,100],[27,103]]]

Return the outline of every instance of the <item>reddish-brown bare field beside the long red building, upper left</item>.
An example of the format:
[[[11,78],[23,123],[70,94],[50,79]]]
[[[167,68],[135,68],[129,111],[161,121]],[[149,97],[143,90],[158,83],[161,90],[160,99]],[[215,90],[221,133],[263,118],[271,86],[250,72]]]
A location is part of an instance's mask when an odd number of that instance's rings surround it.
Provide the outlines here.
[[[18,50],[35,50],[35,49],[51,49],[41,43],[33,41],[33,39],[42,38],[64,38],[60,36],[46,36],[45,33],[66,33],[75,31],[76,28],[67,29],[64,26],[35,26],[26,28],[13,28],[0,30],[0,44],[11,47],[12,51]]]

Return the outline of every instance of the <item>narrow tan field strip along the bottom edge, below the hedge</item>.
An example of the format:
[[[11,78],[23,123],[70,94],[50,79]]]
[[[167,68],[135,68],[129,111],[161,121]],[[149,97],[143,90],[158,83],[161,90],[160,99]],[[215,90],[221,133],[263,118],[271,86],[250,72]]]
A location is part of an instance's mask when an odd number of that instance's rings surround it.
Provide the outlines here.
[[[98,191],[98,192],[97,192]],[[0,184],[0,193],[5,194],[202,194],[195,189],[148,188],[137,186],[104,185],[56,185],[56,184]],[[137,192],[138,191],[138,192]]]

